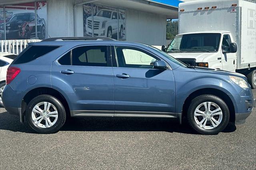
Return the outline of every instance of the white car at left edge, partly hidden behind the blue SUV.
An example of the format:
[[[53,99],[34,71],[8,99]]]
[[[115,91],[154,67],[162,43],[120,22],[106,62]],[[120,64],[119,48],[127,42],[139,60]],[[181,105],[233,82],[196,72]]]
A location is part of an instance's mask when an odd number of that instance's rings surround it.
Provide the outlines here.
[[[0,52],[0,106],[3,106],[2,103],[2,91],[6,85],[6,72],[10,63],[14,60],[17,55],[11,53]]]

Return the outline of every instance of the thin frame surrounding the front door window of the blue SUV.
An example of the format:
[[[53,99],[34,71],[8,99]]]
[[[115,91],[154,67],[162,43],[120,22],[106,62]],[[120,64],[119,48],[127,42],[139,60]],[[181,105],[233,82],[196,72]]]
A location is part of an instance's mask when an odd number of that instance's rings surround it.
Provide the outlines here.
[[[147,69],[147,70],[149,70],[148,68],[119,67],[119,66],[118,66],[118,59],[117,59],[117,55],[116,55],[116,48],[115,48],[116,46],[118,46],[118,47],[130,47],[130,48],[140,49],[140,50],[138,50],[138,51],[141,51],[141,52],[143,52],[143,53],[146,53],[146,54],[150,55],[151,57],[154,56],[153,58],[156,58],[156,59],[158,59],[158,60],[160,60],[160,61],[164,61],[164,62],[166,63],[166,65],[168,66],[168,69],[167,69],[167,70],[172,70],[172,67],[170,67],[170,65],[168,64],[168,62],[166,62],[164,59],[162,59],[162,58],[159,57],[158,55],[152,53],[151,51],[146,51],[145,49],[143,49],[143,48],[141,48],[141,47],[137,47],[137,46],[133,46],[133,45],[123,45],[123,44],[122,44],[122,45],[116,45],[116,44],[112,44],[111,47],[113,47],[113,49],[114,49],[114,54],[115,54],[115,56],[112,56],[112,65],[116,65],[116,66],[115,66],[116,68]],[[112,49],[112,48],[111,48],[111,49]],[[113,63],[113,62],[115,62],[115,63]],[[113,68],[114,68],[114,67],[113,67]],[[152,68],[152,69],[150,69],[150,70],[158,70],[158,69]]]

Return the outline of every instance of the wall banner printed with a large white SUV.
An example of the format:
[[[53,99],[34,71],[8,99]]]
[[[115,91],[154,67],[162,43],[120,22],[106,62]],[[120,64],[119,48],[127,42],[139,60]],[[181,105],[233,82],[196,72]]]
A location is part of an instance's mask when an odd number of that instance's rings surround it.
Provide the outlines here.
[[[84,36],[126,40],[125,10],[91,3],[84,4],[83,9]]]

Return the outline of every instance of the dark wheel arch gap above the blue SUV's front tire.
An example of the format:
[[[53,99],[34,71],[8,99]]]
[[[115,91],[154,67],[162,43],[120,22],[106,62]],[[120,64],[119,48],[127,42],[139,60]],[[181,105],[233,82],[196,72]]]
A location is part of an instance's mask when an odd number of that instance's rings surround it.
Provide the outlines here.
[[[183,107],[182,107],[182,118],[185,118],[187,115],[188,107],[190,105],[190,102],[195,97],[198,97],[200,95],[215,95],[217,97],[220,97],[222,100],[225,101],[226,105],[228,106],[228,109],[230,111],[230,122],[235,122],[235,107],[232,99],[222,90],[220,89],[214,89],[214,88],[203,88],[198,89],[192,93],[186,98],[184,101]]]

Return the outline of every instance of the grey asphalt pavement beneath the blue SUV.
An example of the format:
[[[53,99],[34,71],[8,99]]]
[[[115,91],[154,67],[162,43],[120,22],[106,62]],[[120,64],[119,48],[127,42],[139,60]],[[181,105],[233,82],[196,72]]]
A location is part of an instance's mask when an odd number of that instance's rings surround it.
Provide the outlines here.
[[[0,169],[23,168],[256,169],[256,109],[242,125],[200,135],[160,118],[76,118],[36,134],[0,108]]]

